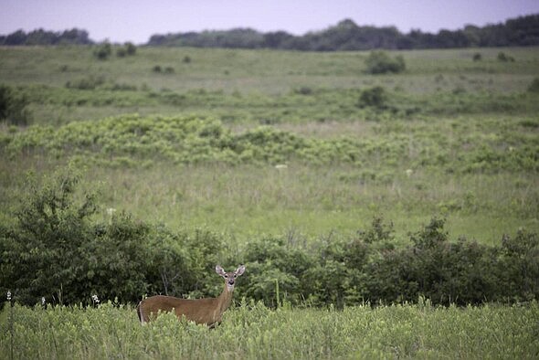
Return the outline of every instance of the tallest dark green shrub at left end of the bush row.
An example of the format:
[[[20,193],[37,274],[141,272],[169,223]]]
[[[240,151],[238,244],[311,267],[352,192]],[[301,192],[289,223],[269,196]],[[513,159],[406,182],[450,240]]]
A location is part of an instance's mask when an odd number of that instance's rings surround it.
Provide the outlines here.
[[[91,234],[88,218],[95,212],[94,196],[73,201],[76,175],[57,175],[42,187],[29,180],[16,226],[4,238],[3,283],[23,303],[34,304],[42,296],[76,302],[74,288],[84,277],[80,254]]]

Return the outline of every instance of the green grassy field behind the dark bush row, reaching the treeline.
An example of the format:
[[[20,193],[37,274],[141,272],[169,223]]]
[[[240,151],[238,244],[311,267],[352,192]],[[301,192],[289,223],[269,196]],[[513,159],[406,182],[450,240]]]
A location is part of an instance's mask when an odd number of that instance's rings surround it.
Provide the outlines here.
[[[500,51],[515,61],[498,61]],[[13,220],[27,171],[72,162],[86,168],[84,186],[100,187],[103,209],[206,225],[238,243],[350,234],[380,214],[401,240],[434,215],[448,218],[451,238],[489,244],[539,229],[539,101],[525,92],[537,48],[402,51],[407,70],[384,76],[365,73],[368,52],[139,48],[105,61],[92,52],[0,48],[0,79],[26,95],[35,123],[1,126],[2,221]],[[94,90],[72,87],[96,79]],[[358,106],[377,85],[385,108]],[[143,136],[122,128],[133,112],[150,129]],[[152,132],[158,116],[209,119],[233,146],[259,124],[284,135],[232,154],[218,139],[195,134],[186,146],[183,132]]]

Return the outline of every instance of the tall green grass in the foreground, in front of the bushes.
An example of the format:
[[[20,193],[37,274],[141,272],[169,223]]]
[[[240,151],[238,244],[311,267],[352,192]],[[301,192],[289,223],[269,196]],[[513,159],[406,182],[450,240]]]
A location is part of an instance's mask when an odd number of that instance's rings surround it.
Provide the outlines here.
[[[16,306],[1,313],[0,353],[26,358],[537,358],[539,307],[357,306],[343,311],[242,304],[216,330],[134,309]],[[10,326],[12,325],[12,330]]]

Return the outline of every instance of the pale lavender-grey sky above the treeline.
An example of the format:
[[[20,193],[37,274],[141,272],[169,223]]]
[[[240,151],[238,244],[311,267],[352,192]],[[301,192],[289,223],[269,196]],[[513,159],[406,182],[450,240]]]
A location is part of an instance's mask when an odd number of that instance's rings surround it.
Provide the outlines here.
[[[234,27],[303,35],[345,18],[437,33],[531,14],[539,0],[0,0],[0,34],[77,27],[94,41],[143,44],[155,34]]]

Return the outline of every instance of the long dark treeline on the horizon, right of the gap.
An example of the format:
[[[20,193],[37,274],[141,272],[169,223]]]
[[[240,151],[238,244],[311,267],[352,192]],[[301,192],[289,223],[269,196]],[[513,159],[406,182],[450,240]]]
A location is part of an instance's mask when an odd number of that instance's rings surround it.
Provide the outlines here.
[[[345,19],[336,26],[298,37],[284,31],[260,33],[250,28],[235,28],[153,35],[147,45],[306,51],[533,46],[539,45],[539,15],[521,16],[503,24],[468,25],[456,31],[440,30],[438,34],[421,30],[403,34],[395,26],[357,26],[354,21]]]

